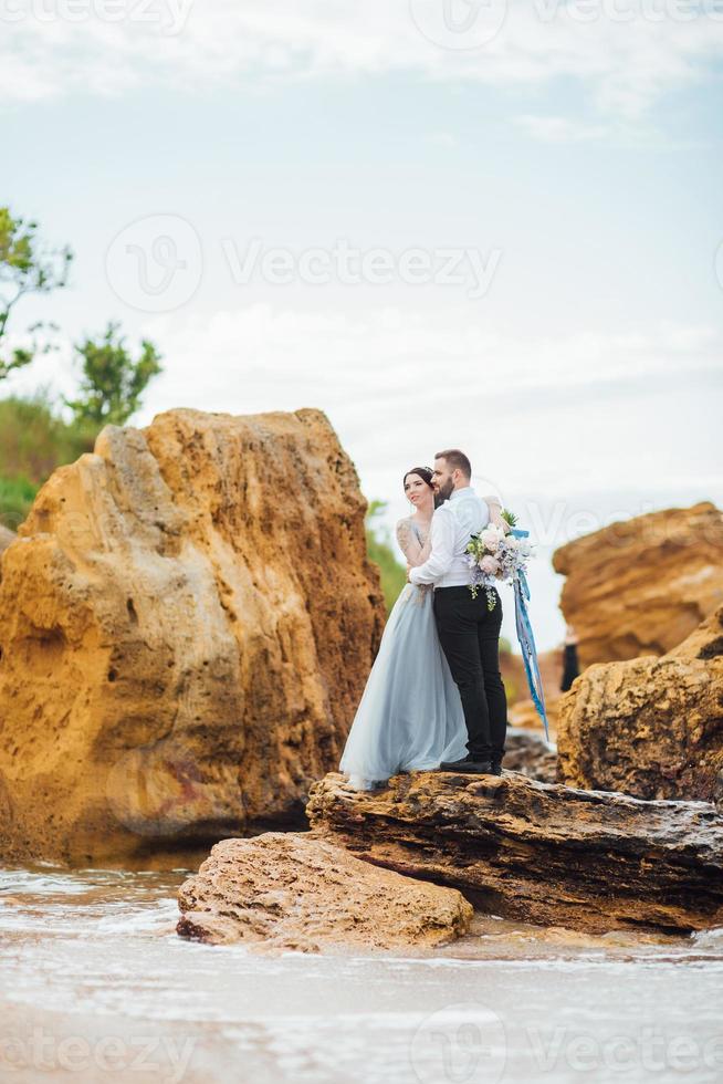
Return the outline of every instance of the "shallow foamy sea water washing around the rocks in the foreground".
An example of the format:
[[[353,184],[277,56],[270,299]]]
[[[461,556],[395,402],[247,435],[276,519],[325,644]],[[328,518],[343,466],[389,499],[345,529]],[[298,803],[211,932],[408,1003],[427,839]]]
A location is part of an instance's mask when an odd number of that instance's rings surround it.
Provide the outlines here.
[[[176,935],[196,868],[0,872],[0,1080],[723,1081],[723,930],[264,956]]]

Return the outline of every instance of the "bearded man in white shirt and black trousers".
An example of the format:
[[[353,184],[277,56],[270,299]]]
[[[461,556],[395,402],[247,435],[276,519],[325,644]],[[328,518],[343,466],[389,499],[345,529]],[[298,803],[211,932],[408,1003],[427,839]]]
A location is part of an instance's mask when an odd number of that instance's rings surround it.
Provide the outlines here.
[[[460,690],[469,740],[467,757],[444,762],[441,771],[502,774],[507,701],[500,674],[502,602],[496,587],[494,609],[486,591],[472,597],[472,574],[465,550],[472,534],[490,522],[490,509],[470,480],[472,467],[463,451],[450,448],[434,457],[432,482],[443,501],[432,517],[429,559],[408,571],[416,584],[434,585],[434,618],[452,677]]]

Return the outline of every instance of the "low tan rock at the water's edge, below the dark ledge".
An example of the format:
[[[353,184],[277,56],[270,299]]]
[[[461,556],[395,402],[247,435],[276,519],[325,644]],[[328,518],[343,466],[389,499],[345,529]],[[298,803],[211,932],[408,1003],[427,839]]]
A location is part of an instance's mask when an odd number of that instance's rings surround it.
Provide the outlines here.
[[[223,840],[179,892],[182,937],[263,949],[392,949],[463,934],[460,893],[359,862],[310,833]]]

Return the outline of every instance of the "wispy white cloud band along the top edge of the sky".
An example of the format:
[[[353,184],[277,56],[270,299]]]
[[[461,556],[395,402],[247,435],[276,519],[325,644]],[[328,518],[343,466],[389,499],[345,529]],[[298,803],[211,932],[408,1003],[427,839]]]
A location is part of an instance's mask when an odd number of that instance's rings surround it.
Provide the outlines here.
[[[416,72],[497,87],[572,76],[604,113],[637,117],[666,91],[702,80],[705,65],[723,52],[723,9],[704,4],[702,14],[685,21],[678,0],[656,6],[599,0],[591,21],[580,14],[589,12],[589,3],[510,2],[499,33],[470,49],[430,40],[441,24],[442,0],[412,0],[427,37],[409,0],[305,0],[303,6],[297,0],[190,0],[190,6],[156,0],[150,8],[126,0],[125,17],[113,22],[92,13],[104,10],[103,0],[87,0],[86,18],[83,0],[75,0],[71,10],[81,15],[73,21],[52,18],[53,11],[66,10],[67,0],[0,3],[6,101],[71,91],[119,93],[157,83],[232,85],[244,77]],[[504,0],[493,3],[502,4],[504,14]],[[38,10],[50,17],[41,21],[33,14]]]

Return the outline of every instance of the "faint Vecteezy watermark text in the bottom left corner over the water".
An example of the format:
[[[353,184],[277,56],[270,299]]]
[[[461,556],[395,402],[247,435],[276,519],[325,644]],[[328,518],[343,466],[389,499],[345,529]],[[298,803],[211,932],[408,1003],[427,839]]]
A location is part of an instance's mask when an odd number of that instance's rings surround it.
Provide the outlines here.
[[[22,1038],[0,1032],[0,1072],[3,1080],[12,1078],[6,1073],[24,1075],[29,1070],[39,1074],[93,1072],[95,1078],[101,1073],[116,1078],[122,1073],[142,1073],[144,1080],[157,1074],[163,1084],[180,1084],[188,1072],[195,1045],[195,1039],[177,1042],[167,1035],[132,1039],[103,1035],[94,1041],[85,1035],[59,1038],[35,1026]]]

